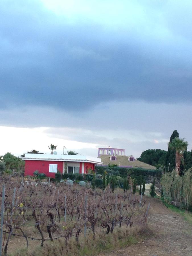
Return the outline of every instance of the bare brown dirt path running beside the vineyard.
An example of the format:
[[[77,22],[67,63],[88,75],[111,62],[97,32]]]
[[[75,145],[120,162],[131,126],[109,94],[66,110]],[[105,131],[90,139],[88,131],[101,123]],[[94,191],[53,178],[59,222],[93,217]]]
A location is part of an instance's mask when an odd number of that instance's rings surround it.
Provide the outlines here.
[[[160,199],[145,198],[147,203],[151,203],[148,220],[154,235],[135,245],[105,255],[192,256],[192,225],[180,214],[166,208]]]

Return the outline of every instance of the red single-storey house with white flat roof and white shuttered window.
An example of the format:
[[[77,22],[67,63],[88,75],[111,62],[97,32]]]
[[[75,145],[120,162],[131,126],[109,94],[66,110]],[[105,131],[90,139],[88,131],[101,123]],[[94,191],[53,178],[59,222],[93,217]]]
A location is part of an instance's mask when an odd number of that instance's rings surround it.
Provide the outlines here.
[[[102,164],[100,158],[81,155],[51,155],[51,154],[25,154],[25,176],[33,176],[38,170],[48,177],[55,177],[57,170],[64,173],[86,174],[89,169],[94,170],[95,164]]]

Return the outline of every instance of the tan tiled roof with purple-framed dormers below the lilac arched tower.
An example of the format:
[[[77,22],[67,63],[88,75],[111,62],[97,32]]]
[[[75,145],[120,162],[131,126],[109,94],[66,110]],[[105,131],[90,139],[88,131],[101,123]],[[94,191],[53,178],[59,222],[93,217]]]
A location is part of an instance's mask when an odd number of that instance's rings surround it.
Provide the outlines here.
[[[141,162],[139,160],[135,161],[129,161],[128,156],[119,156],[116,155],[116,160],[110,160],[111,155],[101,155],[98,158],[101,158],[101,161],[103,162],[104,165],[108,164],[117,164],[117,166],[122,166],[122,167],[139,167],[139,168],[144,168],[144,169],[151,169],[151,170],[156,170],[156,167],[146,164],[144,162]]]

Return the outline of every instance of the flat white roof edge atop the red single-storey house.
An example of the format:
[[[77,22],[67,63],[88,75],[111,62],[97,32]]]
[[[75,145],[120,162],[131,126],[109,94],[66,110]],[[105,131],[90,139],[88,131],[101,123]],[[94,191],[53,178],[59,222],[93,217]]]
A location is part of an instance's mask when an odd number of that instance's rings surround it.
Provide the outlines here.
[[[103,164],[100,158],[81,155],[25,154],[25,157],[23,157],[22,160],[89,162],[93,164]]]

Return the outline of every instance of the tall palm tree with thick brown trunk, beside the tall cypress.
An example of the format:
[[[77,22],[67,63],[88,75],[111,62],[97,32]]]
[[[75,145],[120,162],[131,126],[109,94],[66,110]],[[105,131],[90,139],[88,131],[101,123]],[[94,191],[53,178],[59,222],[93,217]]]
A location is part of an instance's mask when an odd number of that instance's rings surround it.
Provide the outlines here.
[[[179,139],[179,137],[175,137],[172,142],[169,143],[171,149],[176,150],[175,155],[175,170],[177,175],[179,175],[181,158],[183,159],[183,152],[187,150],[187,146],[189,144],[185,139]]]

